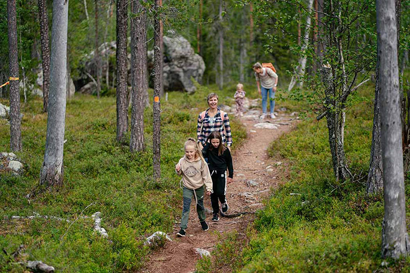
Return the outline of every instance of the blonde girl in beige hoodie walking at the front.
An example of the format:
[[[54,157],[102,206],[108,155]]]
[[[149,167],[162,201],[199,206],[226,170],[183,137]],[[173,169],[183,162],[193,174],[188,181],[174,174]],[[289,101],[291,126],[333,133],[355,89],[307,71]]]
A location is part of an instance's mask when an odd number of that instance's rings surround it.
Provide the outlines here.
[[[196,212],[202,230],[209,229],[205,221],[205,210],[203,207],[204,188],[207,188],[207,195],[212,193],[212,179],[209,173],[208,164],[202,157],[201,150],[193,138],[189,138],[184,145],[185,156],[179,159],[175,166],[175,172],[182,176],[183,209],[181,218],[181,229],[176,234],[185,237],[185,230],[188,227],[189,211],[192,197],[195,198]]]

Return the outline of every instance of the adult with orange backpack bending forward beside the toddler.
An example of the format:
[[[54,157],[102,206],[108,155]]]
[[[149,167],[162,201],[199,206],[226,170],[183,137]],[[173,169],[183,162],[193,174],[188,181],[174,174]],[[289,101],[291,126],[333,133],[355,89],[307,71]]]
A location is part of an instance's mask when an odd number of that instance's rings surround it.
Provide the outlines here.
[[[275,92],[276,86],[278,84],[278,75],[275,73],[276,70],[273,65],[268,62],[266,64],[260,64],[256,62],[252,66],[255,71],[256,85],[258,86],[258,92],[262,95],[262,115],[260,119],[264,119],[267,115],[267,99],[268,92],[270,98],[270,108],[271,108],[271,118],[275,118],[274,109],[275,109]]]

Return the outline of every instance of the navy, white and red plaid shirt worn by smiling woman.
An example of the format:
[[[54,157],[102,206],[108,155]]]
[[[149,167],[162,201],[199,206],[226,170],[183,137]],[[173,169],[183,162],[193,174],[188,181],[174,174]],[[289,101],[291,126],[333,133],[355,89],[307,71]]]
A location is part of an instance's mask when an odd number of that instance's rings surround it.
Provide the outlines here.
[[[229,124],[229,117],[228,114],[225,113],[223,116],[223,122],[221,119],[221,111],[218,108],[218,112],[215,115],[215,123],[214,126],[209,122],[209,115],[208,115],[208,110],[205,112],[205,116],[203,119],[201,118],[201,114],[198,116],[198,125],[196,128],[196,135],[198,137],[198,140],[202,143],[203,146],[205,146],[205,142],[207,141],[208,136],[213,132],[213,131],[218,131],[221,133],[222,136],[222,143],[227,144],[228,146],[232,145],[232,135],[231,135],[231,125]],[[202,130],[201,130],[202,128]],[[225,130],[223,130],[225,128]]]

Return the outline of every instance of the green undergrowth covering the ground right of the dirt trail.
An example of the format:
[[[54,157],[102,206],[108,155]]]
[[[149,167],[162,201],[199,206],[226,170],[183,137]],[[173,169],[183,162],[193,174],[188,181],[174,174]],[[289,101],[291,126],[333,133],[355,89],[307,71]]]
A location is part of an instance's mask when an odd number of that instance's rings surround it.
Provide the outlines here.
[[[381,258],[382,194],[366,196],[372,142],[374,85],[347,113],[345,153],[354,178],[333,175],[325,119],[306,119],[273,142],[271,157],[288,164],[282,186],[273,190],[244,236],[229,234],[201,260],[198,272],[410,272],[410,258]],[[406,178],[407,223],[410,186]]]

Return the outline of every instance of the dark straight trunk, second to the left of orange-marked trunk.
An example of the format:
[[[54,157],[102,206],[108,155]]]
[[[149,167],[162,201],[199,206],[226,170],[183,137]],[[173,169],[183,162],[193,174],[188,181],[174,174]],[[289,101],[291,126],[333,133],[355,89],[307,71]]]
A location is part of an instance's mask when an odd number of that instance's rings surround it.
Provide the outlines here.
[[[124,141],[128,130],[127,101],[127,0],[117,0],[117,141]]]

